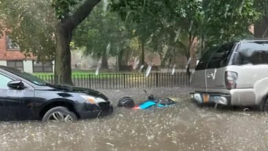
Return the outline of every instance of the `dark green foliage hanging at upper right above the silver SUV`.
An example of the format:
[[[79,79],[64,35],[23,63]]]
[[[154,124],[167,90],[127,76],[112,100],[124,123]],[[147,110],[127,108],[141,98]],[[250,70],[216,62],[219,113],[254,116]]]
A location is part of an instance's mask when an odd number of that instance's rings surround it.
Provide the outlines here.
[[[256,7],[256,1],[113,0],[111,7],[124,21],[135,23],[135,36],[170,60],[178,51],[189,57],[194,38],[203,53],[213,45],[251,36],[249,26],[263,17],[264,8]]]

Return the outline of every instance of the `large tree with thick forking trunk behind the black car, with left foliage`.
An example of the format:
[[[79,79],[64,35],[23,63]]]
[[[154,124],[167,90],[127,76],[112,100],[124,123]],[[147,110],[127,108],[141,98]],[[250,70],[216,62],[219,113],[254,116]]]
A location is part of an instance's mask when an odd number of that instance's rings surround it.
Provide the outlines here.
[[[25,52],[55,59],[55,82],[72,84],[70,43],[76,27],[100,0],[3,0],[2,27]]]

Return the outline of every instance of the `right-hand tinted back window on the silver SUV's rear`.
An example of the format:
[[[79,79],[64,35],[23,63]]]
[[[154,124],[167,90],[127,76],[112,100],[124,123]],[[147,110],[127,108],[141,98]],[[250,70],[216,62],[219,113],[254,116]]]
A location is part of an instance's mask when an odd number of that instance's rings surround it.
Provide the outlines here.
[[[229,43],[219,47],[219,49],[217,49],[210,58],[207,69],[215,69],[227,66],[233,46],[234,43]]]

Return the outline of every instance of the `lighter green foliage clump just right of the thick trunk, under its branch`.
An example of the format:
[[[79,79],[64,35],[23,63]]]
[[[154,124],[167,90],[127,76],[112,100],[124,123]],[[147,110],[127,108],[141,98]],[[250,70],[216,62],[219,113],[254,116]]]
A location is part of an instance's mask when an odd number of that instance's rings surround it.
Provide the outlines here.
[[[92,54],[97,58],[104,54],[115,56],[118,47],[124,47],[121,46],[124,43],[122,22],[117,14],[103,12],[102,7],[103,4],[100,3],[74,33],[76,47],[86,47],[85,55]]]

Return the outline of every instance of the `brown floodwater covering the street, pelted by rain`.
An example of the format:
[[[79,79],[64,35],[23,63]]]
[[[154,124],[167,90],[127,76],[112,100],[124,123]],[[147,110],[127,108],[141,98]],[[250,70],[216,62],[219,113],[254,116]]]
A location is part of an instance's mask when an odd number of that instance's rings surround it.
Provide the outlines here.
[[[72,123],[40,121],[0,124],[0,150],[267,150],[268,115],[243,109],[201,108],[188,100],[189,89],[147,89],[171,97],[170,108],[131,111]],[[142,89],[104,90],[112,100],[136,102]],[[113,104],[116,106],[117,101]]]

